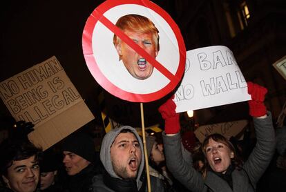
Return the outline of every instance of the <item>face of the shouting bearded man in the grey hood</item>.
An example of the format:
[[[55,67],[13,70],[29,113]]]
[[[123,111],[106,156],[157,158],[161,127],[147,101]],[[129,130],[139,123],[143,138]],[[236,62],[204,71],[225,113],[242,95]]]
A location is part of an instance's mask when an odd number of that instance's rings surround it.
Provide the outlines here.
[[[141,162],[140,144],[133,133],[120,133],[111,146],[113,170],[122,178],[135,178]]]

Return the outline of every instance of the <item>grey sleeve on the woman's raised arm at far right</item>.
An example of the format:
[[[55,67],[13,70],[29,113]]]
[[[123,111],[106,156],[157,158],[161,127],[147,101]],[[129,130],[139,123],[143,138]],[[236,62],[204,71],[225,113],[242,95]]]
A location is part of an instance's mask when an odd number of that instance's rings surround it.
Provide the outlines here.
[[[267,169],[275,152],[276,142],[271,113],[267,112],[265,119],[254,118],[254,128],[256,130],[256,146],[243,168],[255,186]]]

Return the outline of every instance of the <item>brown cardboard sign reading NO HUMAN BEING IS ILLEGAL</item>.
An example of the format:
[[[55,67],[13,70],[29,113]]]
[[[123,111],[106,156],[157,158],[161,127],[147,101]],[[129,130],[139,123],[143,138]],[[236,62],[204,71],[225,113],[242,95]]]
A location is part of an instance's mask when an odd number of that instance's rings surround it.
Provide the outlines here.
[[[28,137],[44,149],[94,119],[55,56],[2,81],[0,96],[17,121],[35,124]]]

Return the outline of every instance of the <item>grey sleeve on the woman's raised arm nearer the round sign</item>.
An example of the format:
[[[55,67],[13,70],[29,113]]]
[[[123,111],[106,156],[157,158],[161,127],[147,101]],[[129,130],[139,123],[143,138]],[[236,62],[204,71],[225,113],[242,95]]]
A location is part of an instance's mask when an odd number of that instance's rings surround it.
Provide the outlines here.
[[[206,191],[202,175],[193,169],[192,162],[186,162],[189,157],[183,157],[180,133],[167,136],[162,133],[164,150],[166,155],[166,165],[173,176],[187,189],[196,191]]]

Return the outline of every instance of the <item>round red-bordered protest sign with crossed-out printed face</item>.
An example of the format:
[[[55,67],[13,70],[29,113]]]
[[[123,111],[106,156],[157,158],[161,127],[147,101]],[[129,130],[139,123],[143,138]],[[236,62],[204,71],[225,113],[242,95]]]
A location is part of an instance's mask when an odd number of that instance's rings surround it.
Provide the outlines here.
[[[129,102],[164,97],[184,73],[180,29],[151,1],[105,1],[86,21],[82,47],[95,80]]]

